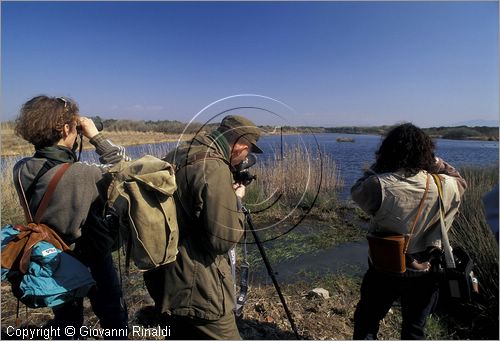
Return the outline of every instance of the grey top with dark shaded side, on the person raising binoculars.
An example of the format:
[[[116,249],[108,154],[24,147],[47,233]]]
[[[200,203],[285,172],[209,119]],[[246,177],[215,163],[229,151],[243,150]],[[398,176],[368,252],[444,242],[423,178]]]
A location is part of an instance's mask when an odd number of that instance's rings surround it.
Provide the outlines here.
[[[113,236],[110,235],[108,222],[104,220],[104,203],[107,186],[103,173],[107,166],[117,163],[126,156],[123,147],[115,146],[102,134],[90,140],[99,154],[102,165],[75,162],[72,151],[62,146],[49,147],[41,157],[37,152],[34,157],[24,158],[14,166],[14,184],[18,193],[20,185],[26,193],[35,177],[46,162],[56,165],[42,175],[29,196],[29,208],[34,214],[47,190],[48,183],[63,162],[73,163],[59,181],[41,219],[54,229],[68,245],[76,243],[76,252],[81,260],[97,258],[110,251]]]

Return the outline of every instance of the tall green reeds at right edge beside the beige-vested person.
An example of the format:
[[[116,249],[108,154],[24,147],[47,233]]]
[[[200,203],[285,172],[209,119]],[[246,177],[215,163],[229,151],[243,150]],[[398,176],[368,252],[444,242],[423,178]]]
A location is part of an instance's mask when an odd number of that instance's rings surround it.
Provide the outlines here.
[[[468,322],[470,328],[481,329],[485,337],[498,339],[498,243],[486,221],[482,203],[483,195],[498,183],[498,167],[465,167],[460,173],[468,188],[450,230],[450,239],[452,245],[463,247],[474,260],[481,291],[479,301],[466,309],[470,314]]]

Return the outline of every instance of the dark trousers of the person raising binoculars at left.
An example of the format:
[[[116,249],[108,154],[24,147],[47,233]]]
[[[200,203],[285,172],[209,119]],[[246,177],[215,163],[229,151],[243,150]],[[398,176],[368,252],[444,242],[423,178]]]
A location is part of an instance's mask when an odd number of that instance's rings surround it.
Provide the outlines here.
[[[96,281],[96,286],[89,291],[88,297],[101,327],[126,329],[128,314],[111,254],[99,261],[89,262],[87,265]],[[73,326],[78,331],[83,325],[83,298],[60,305],[54,308],[53,312],[54,325],[61,327],[61,331],[66,326]],[[68,339],[64,332],[61,332],[60,336],[62,339]],[[78,338],[78,334],[75,338]]]

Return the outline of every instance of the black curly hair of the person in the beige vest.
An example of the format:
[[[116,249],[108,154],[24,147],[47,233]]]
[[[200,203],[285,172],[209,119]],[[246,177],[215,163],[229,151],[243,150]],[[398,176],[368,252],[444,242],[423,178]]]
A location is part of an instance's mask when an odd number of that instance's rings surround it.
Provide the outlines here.
[[[412,176],[421,170],[434,169],[435,144],[424,131],[411,123],[391,129],[375,152],[376,173],[404,170],[405,176]]]

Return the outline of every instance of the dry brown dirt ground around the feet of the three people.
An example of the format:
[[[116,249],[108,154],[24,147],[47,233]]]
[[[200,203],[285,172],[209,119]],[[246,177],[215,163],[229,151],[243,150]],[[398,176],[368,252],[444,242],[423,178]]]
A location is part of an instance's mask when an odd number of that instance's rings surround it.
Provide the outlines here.
[[[292,313],[299,336],[302,339],[317,340],[350,339],[359,281],[350,278],[335,278],[325,281],[324,284],[330,292],[328,299],[310,297],[308,295],[312,289],[310,284],[295,283],[282,286],[283,295]],[[124,280],[124,293],[129,310],[130,328],[134,325],[154,328],[161,324],[161,318],[155,313],[153,302],[144,289],[142,276],[138,272],[132,272]],[[9,285],[2,285],[2,339],[12,339],[7,334],[6,328],[16,325],[16,303]],[[50,309],[26,310],[21,304],[20,327],[47,327],[51,319]],[[295,339],[290,322],[272,285],[250,287],[243,316],[238,319],[237,323],[243,339]],[[399,334],[397,323],[397,314],[390,313],[382,323],[381,338],[397,339]],[[99,326],[88,300],[85,301],[85,325],[95,328]],[[175,328],[175,326],[170,326],[170,328]]]

